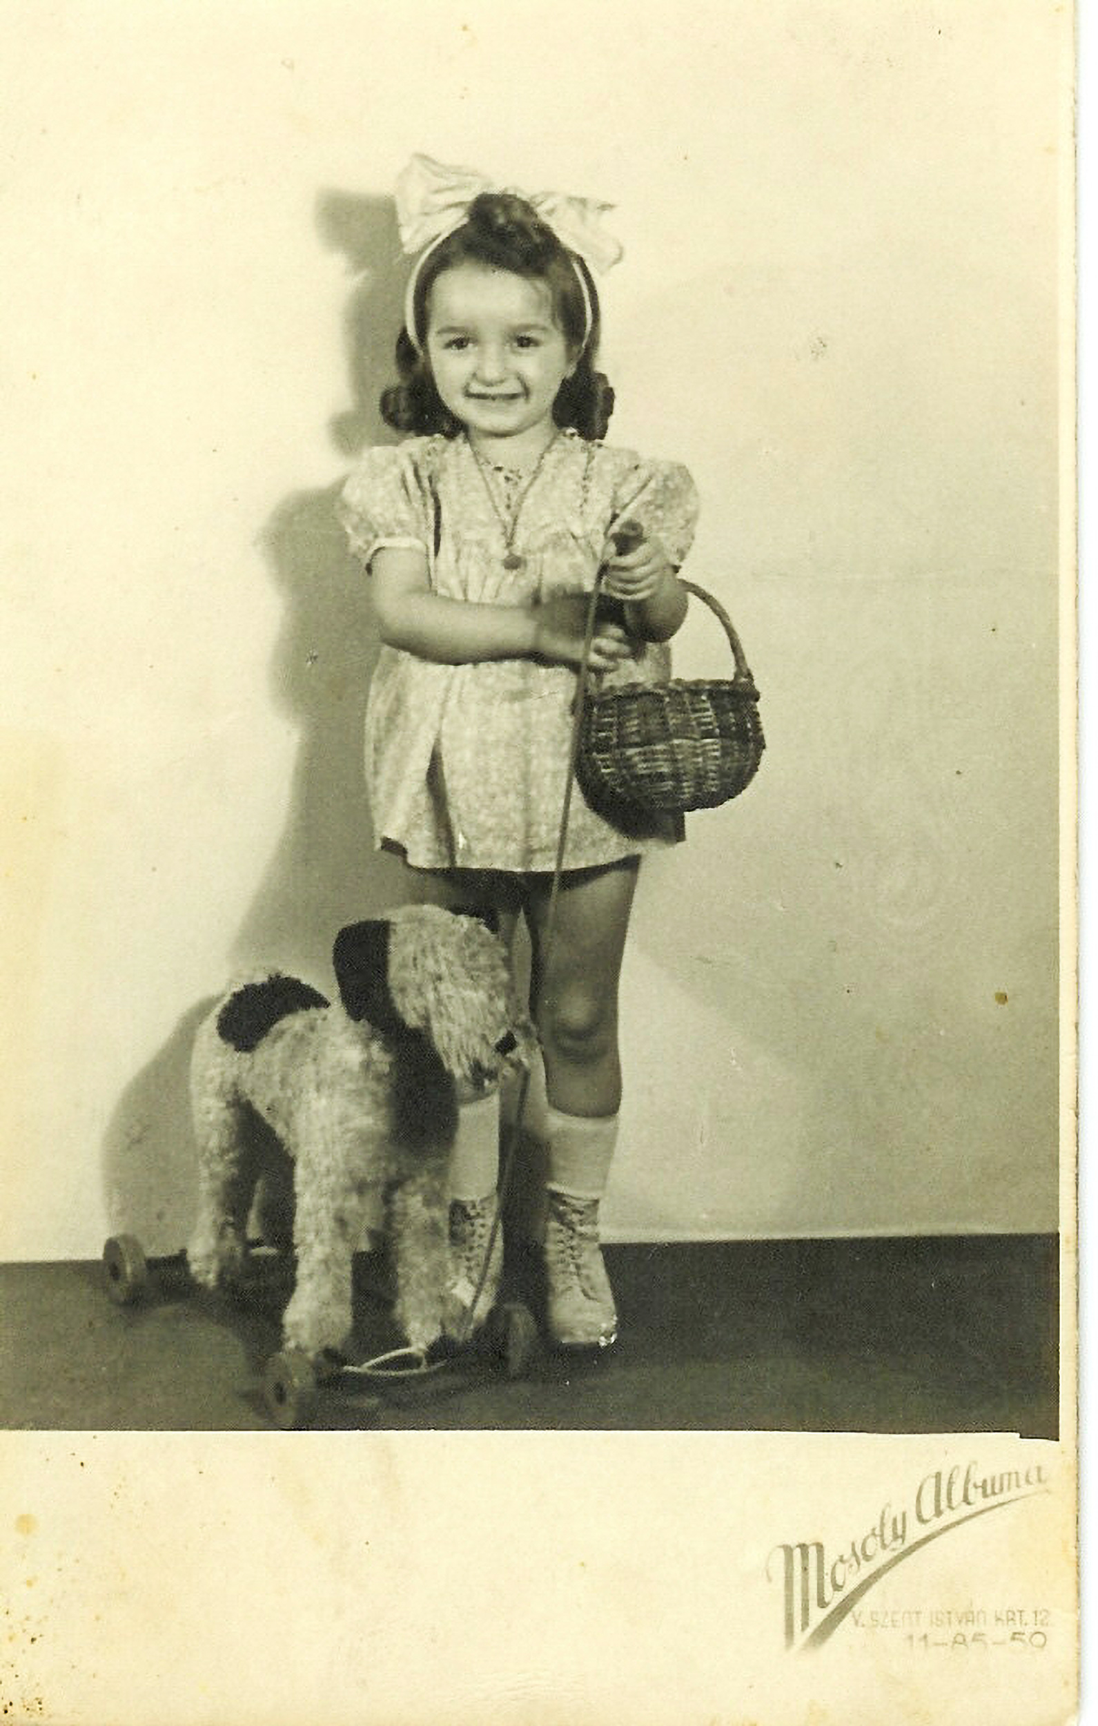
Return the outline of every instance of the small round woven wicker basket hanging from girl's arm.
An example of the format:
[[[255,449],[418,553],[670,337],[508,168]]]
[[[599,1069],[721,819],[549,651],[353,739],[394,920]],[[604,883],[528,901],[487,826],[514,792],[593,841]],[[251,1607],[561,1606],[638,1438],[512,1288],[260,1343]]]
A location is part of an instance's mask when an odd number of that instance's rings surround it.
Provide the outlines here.
[[[587,689],[575,775],[594,809],[715,809],[739,797],[758,773],[765,739],[739,635],[704,587],[682,585],[722,623],[735,675]]]

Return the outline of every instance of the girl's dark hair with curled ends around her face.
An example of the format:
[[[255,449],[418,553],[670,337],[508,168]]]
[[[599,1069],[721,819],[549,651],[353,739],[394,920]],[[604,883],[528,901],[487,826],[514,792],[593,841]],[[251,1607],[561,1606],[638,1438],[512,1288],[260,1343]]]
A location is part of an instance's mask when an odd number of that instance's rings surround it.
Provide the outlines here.
[[[416,335],[426,337],[428,299],[433,283],[444,269],[456,264],[483,264],[489,269],[506,269],[528,281],[544,281],[549,290],[552,314],[565,340],[578,359],[570,378],[561,383],[552,404],[558,426],[571,428],[580,437],[597,440],[606,437],[615,406],[615,392],[604,373],[596,369],[599,350],[599,295],[587,264],[568,252],[552,228],[540,219],[532,204],[511,192],[482,192],[470,204],[466,221],[447,235],[423,262],[413,295]],[[582,273],[590,304],[590,330],[587,328],[587,302]],[[420,435],[442,433],[456,437],[461,421],[444,404],[432,375],[425,350],[420,350],[407,330],[397,337],[399,381],[382,392],[382,418],[395,432]]]

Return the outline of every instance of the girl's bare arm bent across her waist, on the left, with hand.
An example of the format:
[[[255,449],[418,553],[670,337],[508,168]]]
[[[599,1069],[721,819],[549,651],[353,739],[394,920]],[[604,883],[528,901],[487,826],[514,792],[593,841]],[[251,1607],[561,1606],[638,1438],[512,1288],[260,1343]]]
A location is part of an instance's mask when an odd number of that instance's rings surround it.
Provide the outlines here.
[[[435,665],[482,659],[580,663],[587,599],[565,595],[537,606],[490,606],[444,599],[430,587],[426,557],[411,547],[382,547],[373,557],[373,604],[382,640]],[[628,658],[623,630],[599,625],[590,663],[606,671]]]

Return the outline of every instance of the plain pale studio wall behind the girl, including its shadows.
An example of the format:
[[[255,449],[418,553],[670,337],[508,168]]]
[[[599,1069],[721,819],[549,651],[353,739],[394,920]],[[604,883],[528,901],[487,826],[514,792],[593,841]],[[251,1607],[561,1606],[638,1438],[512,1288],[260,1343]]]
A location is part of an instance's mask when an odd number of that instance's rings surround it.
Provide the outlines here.
[[[694,471],[687,573],[763,690],[756,784],[642,877],[608,1232],[1053,1229],[1057,9],[100,3],[12,35],[0,1255],[181,1244],[204,1005],[252,963],[325,987],[399,892],[331,499],[388,435],[413,150],[616,205],[611,438]],[[678,668],[725,665],[692,616]]]

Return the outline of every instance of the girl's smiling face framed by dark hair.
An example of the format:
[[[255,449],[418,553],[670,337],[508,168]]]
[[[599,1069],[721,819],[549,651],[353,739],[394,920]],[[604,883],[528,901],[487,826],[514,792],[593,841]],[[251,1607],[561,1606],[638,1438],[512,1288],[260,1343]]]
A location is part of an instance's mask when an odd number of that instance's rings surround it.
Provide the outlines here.
[[[540,456],[577,357],[544,281],[471,262],[444,269],[430,288],[426,356],[473,444],[506,447],[518,461]]]

